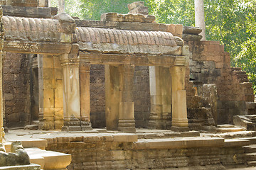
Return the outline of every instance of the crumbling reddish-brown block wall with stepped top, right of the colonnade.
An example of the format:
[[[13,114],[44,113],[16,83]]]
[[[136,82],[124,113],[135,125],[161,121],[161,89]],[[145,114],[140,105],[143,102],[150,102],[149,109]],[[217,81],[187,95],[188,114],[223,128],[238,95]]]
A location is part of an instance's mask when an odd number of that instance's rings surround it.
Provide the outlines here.
[[[203,96],[203,84],[215,84],[217,123],[233,123],[233,115],[246,113],[245,103],[254,101],[252,84],[245,72],[230,67],[230,54],[215,41],[189,41],[190,81]]]

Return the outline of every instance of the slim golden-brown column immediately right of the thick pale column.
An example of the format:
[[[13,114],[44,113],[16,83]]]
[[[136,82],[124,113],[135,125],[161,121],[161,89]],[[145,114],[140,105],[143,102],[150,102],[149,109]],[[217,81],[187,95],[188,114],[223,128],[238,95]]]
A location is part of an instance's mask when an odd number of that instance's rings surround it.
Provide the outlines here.
[[[80,62],[80,110],[82,130],[92,130],[90,123],[90,63]]]

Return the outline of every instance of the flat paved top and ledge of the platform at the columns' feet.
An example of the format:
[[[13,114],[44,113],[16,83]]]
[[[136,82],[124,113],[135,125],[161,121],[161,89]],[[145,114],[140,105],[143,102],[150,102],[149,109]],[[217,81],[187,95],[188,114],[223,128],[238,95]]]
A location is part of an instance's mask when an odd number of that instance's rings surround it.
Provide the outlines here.
[[[119,137],[119,142],[124,142],[129,140],[129,142],[136,142],[137,147],[142,147],[144,149],[144,143],[148,142],[146,147],[151,147],[152,149],[160,148],[161,145],[166,147],[180,147],[183,145],[183,141],[186,141],[185,147],[195,147],[198,145],[206,145],[213,147],[217,146],[218,142],[220,145],[223,145],[225,141],[225,146],[243,146],[250,145],[250,141],[247,138],[250,138],[256,141],[255,132],[252,131],[240,131],[240,132],[218,132],[218,133],[206,133],[198,131],[190,132],[172,132],[171,130],[148,130],[148,129],[137,129],[136,133],[122,133],[118,131],[107,131],[105,129],[93,129],[85,132],[61,132],[60,130],[9,130],[9,133],[6,133],[6,143],[8,141],[31,141],[29,145],[33,147],[38,147],[44,149],[46,147],[46,141],[41,139],[54,138],[54,137]],[[223,139],[224,138],[224,139]],[[214,141],[215,140],[215,141]],[[222,140],[222,141],[221,141]],[[45,143],[46,142],[46,143]],[[171,144],[169,144],[172,142]],[[222,144],[221,144],[222,143]],[[26,144],[25,144],[26,145]],[[173,146],[174,145],[174,146]],[[245,167],[245,166],[230,166],[226,167],[230,170],[252,170],[256,167]]]

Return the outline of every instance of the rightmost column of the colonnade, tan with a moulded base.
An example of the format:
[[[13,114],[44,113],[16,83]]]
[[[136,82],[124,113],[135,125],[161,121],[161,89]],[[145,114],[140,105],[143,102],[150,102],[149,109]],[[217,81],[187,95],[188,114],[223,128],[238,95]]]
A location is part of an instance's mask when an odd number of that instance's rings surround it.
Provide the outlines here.
[[[186,107],[185,74],[186,66],[171,67],[172,127],[174,131],[188,130]]]

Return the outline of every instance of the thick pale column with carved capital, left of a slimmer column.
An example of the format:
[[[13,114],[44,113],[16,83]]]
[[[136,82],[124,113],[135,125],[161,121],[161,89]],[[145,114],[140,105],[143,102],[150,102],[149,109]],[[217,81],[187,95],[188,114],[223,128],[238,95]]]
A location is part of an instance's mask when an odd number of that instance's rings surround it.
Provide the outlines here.
[[[63,67],[63,131],[81,131],[80,123],[80,84],[77,54],[60,55]]]

